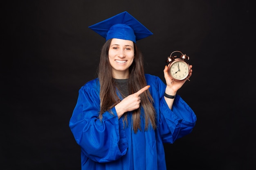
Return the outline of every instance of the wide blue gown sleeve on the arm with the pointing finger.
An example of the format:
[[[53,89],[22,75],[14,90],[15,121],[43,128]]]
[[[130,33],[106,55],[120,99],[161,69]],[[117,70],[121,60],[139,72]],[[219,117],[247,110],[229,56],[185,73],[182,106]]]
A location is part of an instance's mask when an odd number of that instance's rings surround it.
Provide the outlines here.
[[[128,144],[115,107],[103,113],[103,119],[99,120],[98,86],[94,81],[81,87],[69,126],[83,154],[102,163],[125,155]]]

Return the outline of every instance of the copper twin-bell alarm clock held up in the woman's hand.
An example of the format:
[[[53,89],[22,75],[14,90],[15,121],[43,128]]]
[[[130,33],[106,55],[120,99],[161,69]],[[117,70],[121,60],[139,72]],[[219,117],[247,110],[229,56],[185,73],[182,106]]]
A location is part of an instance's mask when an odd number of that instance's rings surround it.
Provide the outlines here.
[[[173,81],[181,81],[187,78],[189,75],[190,67],[189,67],[189,56],[186,54],[180,55],[180,57],[172,56],[173,53],[180,52],[180,51],[173,51],[170,55],[170,57],[166,60],[166,65],[168,67],[168,75],[173,79]]]

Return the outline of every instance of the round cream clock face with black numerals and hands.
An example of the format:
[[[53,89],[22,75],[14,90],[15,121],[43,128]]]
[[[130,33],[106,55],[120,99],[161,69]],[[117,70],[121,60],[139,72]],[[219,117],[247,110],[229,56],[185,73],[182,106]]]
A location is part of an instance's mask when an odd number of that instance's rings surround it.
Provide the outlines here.
[[[185,61],[170,63],[169,75],[175,80],[184,80],[189,75],[189,65]]]

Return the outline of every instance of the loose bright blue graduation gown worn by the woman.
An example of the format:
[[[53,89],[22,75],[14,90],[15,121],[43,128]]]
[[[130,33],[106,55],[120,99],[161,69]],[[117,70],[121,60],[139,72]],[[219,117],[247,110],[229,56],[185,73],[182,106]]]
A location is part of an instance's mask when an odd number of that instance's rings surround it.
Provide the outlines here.
[[[166,170],[163,143],[173,143],[189,134],[196,116],[189,105],[177,95],[172,110],[164,100],[166,85],[157,76],[145,74],[154,99],[157,129],[132,130],[132,112],[128,126],[118,119],[115,107],[103,113],[99,120],[100,98],[98,78],[79,90],[79,96],[70,118],[70,129],[81,147],[82,170]],[[141,120],[143,117],[141,116]]]

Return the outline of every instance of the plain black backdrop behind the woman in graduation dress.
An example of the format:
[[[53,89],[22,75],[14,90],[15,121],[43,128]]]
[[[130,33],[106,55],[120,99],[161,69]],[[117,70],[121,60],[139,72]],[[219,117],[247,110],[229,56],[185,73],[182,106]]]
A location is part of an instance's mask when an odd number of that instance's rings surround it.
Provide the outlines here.
[[[128,11],[154,35],[137,41],[164,81],[171,52],[193,65],[178,94],[198,121],[165,144],[168,170],[256,168],[255,9],[249,0],[27,0],[2,4],[2,170],[79,170],[68,127],[105,39],[88,26]]]

